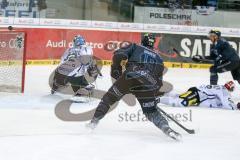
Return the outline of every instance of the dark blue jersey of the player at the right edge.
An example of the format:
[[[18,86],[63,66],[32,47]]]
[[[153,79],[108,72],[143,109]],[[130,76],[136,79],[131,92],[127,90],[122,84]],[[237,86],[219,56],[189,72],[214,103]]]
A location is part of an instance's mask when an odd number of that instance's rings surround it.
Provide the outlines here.
[[[236,50],[223,38],[211,46],[209,58],[215,61],[240,61]]]

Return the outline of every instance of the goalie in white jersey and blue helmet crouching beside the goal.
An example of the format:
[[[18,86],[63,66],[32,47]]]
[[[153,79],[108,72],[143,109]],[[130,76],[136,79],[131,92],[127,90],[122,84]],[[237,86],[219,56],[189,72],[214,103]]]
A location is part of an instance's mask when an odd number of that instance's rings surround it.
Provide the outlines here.
[[[91,81],[86,79],[91,77]],[[73,47],[68,48],[61,57],[61,63],[55,70],[51,93],[54,94],[70,83],[75,96],[82,96],[81,89],[91,92],[98,69],[93,60],[92,48],[86,45],[85,39],[77,35],[73,39]]]

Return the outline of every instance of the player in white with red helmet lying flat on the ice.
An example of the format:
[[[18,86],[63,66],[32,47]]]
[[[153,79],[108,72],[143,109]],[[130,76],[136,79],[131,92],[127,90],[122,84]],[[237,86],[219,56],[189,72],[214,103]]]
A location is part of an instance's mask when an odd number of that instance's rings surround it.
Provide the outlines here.
[[[161,97],[162,104],[173,107],[209,107],[223,108],[230,110],[240,109],[231,99],[231,92],[234,91],[234,82],[230,81],[225,85],[201,85],[191,87],[183,94],[169,93]]]

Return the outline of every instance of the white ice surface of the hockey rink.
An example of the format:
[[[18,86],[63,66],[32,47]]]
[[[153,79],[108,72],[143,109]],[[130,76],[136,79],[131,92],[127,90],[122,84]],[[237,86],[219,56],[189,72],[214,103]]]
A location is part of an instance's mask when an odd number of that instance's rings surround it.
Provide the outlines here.
[[[144,121],[139,104],[129,107],[123,101],[93,132],[85,128],[86,122],[62,121],[54,112],[62,98],[49,95],[48,78],[55,67],[27,66],[24,95],[0,94],[1,160],[238,160],[240,157],[240,111],[162,106],[168,113],[182,115],[180,122],[196,130],[196,134],[190,135],[170,122],[182,134],[180,142]],[[107,90],[111,85],[109,67],[102,72],[104,76],[97,79],[96,87]],[[231,80],[231,75],[222,74],[219,79],[224,84]],[[209,72],[169,69],[164,80],[181,93],[191,86],[208,84]],[[240,101],[240,86],[236,84],[236,88],[233,97]],[[92,109],[98,102],[92,99],[89,103],[74,104],[71,111]]]

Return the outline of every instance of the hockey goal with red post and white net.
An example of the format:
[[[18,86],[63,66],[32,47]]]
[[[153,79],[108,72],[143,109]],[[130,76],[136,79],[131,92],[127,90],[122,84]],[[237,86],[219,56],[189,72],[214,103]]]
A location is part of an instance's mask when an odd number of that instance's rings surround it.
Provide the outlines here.
[[[0,31],[0,92],[24,92],[25,33]]]

